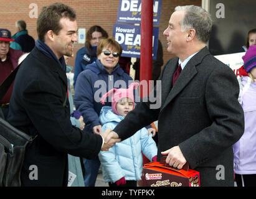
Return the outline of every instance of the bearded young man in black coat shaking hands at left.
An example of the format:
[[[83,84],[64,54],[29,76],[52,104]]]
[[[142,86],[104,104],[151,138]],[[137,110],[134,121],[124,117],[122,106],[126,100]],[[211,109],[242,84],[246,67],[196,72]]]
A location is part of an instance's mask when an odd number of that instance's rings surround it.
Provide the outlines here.
[[[37,136],[27,147],[21,173],[22,186],[67,186],[67,154],[92,159],[104,144],[102,135],[83,132],[70,123],[70,107],[63,55],[77,42],[75,12],[55,3],[43,7],[37,19],[39,39],[21,63],[14,81],[8,121]]]

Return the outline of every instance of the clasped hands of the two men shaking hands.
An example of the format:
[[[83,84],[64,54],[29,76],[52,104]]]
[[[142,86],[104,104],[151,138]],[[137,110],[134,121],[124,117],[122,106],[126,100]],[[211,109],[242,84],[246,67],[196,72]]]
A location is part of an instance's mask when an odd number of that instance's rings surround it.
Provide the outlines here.
[[[107,129],[106,131],[100,133],[100,135],[103,137],[104,144],[102,146],[103,151],[107,151],[111,147],[113,147],[116,142],[120,142],[121,139],[119,138],[118,134],[111,129]]]

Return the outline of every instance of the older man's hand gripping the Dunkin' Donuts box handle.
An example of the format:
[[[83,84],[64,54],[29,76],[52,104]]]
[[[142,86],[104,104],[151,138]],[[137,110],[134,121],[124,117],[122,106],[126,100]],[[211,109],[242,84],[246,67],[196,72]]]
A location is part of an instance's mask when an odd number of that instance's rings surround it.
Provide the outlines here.
[[[182,169],[183,165],[187,162],[179,146],[175,146],[169,150],[161,152],[161,154],[168,155],[166,157],[166,164],[169,164],[170,166],[176,167],[178,169]]]

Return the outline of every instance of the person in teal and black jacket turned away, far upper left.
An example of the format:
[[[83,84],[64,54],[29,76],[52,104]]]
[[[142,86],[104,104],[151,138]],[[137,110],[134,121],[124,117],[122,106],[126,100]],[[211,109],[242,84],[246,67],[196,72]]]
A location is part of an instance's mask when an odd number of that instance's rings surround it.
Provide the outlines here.
[[[16,21],[15,27],[17,32],[11,37],[14,42],[11,42],[10,47],[22,52],[31,52],[35,47],[35,40],[28,34],[26,22],[23,20]]]

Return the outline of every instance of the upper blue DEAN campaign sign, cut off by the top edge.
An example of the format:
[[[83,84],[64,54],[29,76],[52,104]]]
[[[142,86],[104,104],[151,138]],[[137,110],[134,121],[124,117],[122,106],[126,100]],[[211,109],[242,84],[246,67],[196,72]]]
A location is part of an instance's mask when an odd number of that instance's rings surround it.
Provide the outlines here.
[[[153,2],[153,25],[159,25],[162,0]],[[128,24],[141,23],[141,0],[120,0],[116,22]]]

